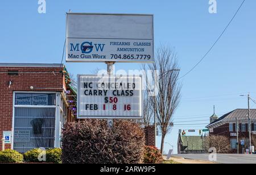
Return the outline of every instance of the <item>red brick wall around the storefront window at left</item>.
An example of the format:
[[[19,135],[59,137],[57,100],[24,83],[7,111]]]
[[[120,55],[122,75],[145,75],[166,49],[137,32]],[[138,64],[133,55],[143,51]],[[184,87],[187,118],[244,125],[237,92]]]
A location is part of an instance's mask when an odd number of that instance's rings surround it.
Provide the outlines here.
[[[18,76],[9,76],[8,70],[18,70]],[[18,67],[0,67],[0,138],[3,137],[3,131],[12,130],[13,122],[13,92],[14,91],[63,91],[62,89],[35,89],[34,87],[55,87],[63,88],[64,76],[60,71],[63,68],[18,68]],[[30,73],[22,73],[30,72]],[[37,72],[37,73],[34,73]],[[44,72],[44,73],[39,73]],[[51,72],[51,73],[50,73]],[[55,73],[53,73],[55,72]],[[8,86],[8,82],[13,81],[13,85]],[[0,141],[1,142],[1,141]],[[7,144],[6,149],[10,149],[11,145]],[[0,149],[2,143],[0,143]]]

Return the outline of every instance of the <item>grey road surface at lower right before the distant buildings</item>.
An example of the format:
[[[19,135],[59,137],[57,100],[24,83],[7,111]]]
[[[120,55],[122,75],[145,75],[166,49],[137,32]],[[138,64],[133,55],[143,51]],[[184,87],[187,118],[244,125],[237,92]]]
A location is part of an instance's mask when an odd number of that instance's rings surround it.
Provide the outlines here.
[[[184,159],[209,161],[209,154],[181,154],[172,155],[174,157],[183,157]],[[217,161],[220,164],[256,164],[256,155],[236,155],[236,154],[217,154]]]

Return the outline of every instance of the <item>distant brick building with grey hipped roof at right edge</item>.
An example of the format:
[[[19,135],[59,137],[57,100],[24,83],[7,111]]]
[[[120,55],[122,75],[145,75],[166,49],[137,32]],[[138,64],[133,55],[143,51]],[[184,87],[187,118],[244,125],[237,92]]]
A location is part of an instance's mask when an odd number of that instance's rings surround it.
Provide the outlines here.
[[[251,135],[256,134],[256,109],[250,110]],[[216,115],[210,118],[210,124],[206,126],[210,130],[210,135],[223,135],[230,139],[230,147],[232,153],[237,152],[237,129],[239,138],[239,152],[242,148],[249,148],[249,120],[247,109],[236,109],[227,113],[220,118]],[[245,145],[241,145],[241,140],[245,141]],[[256,146],[256,145],[254,145]]]

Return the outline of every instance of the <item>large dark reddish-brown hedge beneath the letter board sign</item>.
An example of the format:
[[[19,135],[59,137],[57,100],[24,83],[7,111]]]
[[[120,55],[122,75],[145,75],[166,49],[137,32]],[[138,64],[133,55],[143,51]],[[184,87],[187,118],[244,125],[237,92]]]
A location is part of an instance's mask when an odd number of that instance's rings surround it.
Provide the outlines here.
[[[144,131],[128,120],[86,119],[68,123],[63,130],[64,164],[135,164],[142,163]]]

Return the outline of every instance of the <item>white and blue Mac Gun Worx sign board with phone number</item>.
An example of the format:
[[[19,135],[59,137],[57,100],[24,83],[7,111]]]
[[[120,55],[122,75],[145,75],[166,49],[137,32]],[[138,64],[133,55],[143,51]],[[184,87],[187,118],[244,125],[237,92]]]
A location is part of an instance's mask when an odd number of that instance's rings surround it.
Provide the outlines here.
[[[153,62],[153,15],[67,13],[67,62]]]

